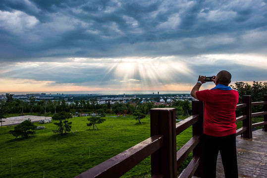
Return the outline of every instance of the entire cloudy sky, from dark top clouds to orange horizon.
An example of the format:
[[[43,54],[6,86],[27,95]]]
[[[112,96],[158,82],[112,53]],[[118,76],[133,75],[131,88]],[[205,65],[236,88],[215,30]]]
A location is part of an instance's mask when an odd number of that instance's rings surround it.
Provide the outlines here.
[[[0,0],[0,93],[182,92],[220,70],[267,81],[267,0]]]

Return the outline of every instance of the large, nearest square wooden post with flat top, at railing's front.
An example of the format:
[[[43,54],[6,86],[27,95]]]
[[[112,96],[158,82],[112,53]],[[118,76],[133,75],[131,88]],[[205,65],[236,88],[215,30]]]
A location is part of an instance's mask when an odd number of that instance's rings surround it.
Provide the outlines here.
[[[150,110],[151,136],[163,135],[163,147],[151,155],[151,175],[177,178],[175,108]]]

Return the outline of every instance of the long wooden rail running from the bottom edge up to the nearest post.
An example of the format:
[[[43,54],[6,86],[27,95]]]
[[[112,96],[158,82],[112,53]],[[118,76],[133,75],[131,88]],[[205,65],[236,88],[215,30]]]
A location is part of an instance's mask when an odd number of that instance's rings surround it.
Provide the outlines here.
[[[75,178],[118,178],[162,146],[162,135],[154,135]]]

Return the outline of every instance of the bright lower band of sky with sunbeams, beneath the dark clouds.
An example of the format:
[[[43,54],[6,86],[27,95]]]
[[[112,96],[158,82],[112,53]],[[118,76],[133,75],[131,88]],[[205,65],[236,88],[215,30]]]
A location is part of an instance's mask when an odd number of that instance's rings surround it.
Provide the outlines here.
[[[261,64],[261,65],[259,65]],[[239,65],[240,68],[235,68]],[[249,81],[247,71],[265,81],[264,56],[208,54],[196,57],[68,58],[58,62],[16,62],[0,67],[0,92],[19,91],[189,91],[198,75],[213,76],[227,68],[236,81]],[[260,70],[262,69],[262,70]],[[264,73],[265,72],[265,73]],[[27,78],[27,79],[26,79]],[[232,83],[232,84],[233,84]],[[213,88],[207,83],[203,89]],[[112,92],[111,92],[112,91]]]

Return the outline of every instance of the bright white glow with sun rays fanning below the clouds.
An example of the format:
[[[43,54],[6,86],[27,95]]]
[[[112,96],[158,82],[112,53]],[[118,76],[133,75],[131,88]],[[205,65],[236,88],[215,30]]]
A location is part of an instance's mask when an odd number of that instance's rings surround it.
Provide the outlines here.
[[[177,81],[177,76],[189,75],[192,71],[186,63],[174,56],[158,58],[116,59],[107,75],[116,76],[122,89],[173,90],[167,84]],[[175,88],[176,89],[176,88]]]

